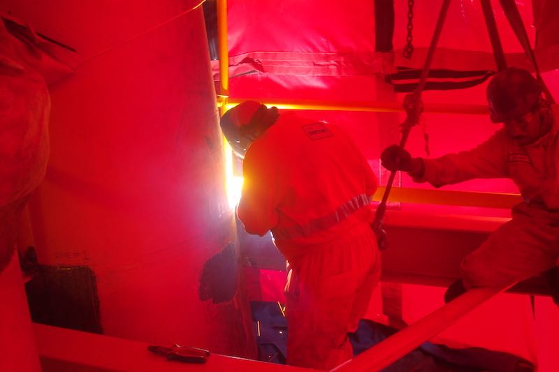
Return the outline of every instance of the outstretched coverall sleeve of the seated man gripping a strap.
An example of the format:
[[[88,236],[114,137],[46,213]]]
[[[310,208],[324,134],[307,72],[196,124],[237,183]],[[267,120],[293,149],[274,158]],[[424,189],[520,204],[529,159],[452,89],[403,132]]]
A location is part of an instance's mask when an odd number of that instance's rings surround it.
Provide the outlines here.
[[[423,159],[423,177],[416,177],[414,181],[429,182],[440,187],[474,178],[509,177],[508,144],[506,133],[498,131],[474,149],[435,159]]]

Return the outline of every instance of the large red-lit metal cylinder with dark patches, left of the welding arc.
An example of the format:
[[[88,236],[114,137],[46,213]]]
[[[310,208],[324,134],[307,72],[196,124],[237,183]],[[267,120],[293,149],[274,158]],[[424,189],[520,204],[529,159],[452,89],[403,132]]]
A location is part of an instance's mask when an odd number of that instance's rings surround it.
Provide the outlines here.
[[[82,57],[29,204],[34,318],[255,357],[198,1],[8,3]]]

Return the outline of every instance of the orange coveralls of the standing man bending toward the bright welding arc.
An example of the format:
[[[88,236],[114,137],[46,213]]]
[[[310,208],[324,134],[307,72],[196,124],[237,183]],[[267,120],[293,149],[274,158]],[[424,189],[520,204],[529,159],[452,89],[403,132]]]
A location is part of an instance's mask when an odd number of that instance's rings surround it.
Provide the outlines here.
[[[354,332],[379,281],[370,197],[377,179],[336,126],[284,112],[249,147],[237,214],[272,230],[289,262],[287,363],[332,369],[352,357]]]

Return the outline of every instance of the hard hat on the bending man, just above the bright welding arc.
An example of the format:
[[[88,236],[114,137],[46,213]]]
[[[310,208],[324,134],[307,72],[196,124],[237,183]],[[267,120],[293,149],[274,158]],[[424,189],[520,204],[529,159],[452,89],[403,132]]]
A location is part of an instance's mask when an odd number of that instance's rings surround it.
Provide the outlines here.
[[[254,140],[254,129],[266,110],[266,105],[245,101],[223,115],[220,121],[222,132],[240,158],[245,157],[249,144]]]

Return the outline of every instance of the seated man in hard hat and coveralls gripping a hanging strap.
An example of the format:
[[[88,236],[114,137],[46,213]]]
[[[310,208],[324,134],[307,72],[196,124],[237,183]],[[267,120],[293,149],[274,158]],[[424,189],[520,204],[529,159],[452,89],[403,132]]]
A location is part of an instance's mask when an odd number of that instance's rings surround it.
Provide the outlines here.
[[[476,178],[510,178],[523,196],[512,218],[463,258],[461,281],[449,301],[468,288],[508,285],[556,267],[559,256],[559,111],[528,70],[493,75],[486,94],[490,119],[503,127],[469,151],[416,158],[398,145],[384,149],[382,165],[435,187]]]

